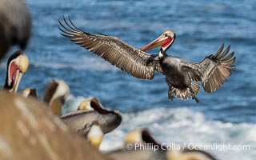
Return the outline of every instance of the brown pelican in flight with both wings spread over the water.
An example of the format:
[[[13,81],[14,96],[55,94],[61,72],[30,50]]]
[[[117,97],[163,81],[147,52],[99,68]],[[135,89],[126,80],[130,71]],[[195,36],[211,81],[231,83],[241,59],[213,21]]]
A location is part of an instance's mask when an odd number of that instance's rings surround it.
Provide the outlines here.
[[[235,57],[232,58],[234,52],[226,56],[230,50],[230,46],[228,46],[222,53],[224,44],[217,54],[211,54],[202,62],[194,63],[166,54],[166,50],[170,48],[175,39],[174,32],[170,30],[138,50],[116,37],[89,34],[78,30],[71,20],[67,22],[64,18],[64,22],[66,26],[59,21],[62,26],[59,29],[63,32],[63,36],[97,54],[127,74],[142,79],[154,78],[155,70],[164,74],[169,86],[168,97],[171,100],[175,97],[180,99],[193,98],[199,102],[196,97],[199,92],[199,85],[196,82],[202,82],[202,87],[207,93],[214,92],[230,77],[230,70],[234,69],[234,66],[231,66],[235,61]],[[143,52],[157,46],[161,46],[158,55]]]

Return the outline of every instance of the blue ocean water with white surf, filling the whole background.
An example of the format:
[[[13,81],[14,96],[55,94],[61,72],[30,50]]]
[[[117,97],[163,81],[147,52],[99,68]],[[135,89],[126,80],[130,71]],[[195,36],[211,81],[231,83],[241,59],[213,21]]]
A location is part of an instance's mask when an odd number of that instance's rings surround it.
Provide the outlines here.
[[[70,99],[97,97],[106,108],[120,110],[124,117],[122,126],[106,135],[102,150],[121,145],[128,131],[146,127],[161,142],[217,141],[251,146],[247,151],[210,150],[219,159],[256,157],[254,0],[27,0],[26,3],[33,18],[33,37],[26,50],[30,66],[20,90],[35,87],[42,98],[47,83],[58,78],[69,84]],[[191,62],[215,54],[225,42],[235,51],[236,69],[213,94],[201,90],[200,104],[194,100],[171,102],[161,74],[156,74],[152,81],[133,78],[62,37],[58,19],[63,15],[70,15],[81,30],[116,36],[137,48],[165,30],[174,30],[176,40],[167,54]],[[158,49],[149,53],[157,54]],[[0,84],[5,80],[6,59],[0,64],[0,74],[4,75]]]

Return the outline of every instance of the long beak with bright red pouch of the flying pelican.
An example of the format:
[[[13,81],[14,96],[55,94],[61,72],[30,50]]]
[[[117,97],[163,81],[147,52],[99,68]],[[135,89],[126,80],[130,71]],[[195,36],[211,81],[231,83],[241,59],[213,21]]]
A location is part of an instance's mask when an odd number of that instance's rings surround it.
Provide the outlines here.
[[[154,41],[150,42],[146,46],[143,46],[140,49],[140,51],[151,50],[158,46],[166,47],[166,46],[169,46],[170,43],[172,43],[173,41],[174,41],[174,38],[166,36],[166,34],[162,34],[158,38],[156,38]]]

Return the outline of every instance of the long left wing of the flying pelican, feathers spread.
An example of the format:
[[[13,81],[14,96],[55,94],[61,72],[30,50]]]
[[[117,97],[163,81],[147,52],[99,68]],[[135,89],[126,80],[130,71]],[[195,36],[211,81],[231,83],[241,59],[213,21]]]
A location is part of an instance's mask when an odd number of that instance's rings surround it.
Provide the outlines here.
[[[122,42],[116,37],[106,36],[104,34],[89,34],[79,30],[74,23],[64,18],[64,23],[58,21],[61,27],[62,35],[70,38],[79,46],[97,54],[113,66],[131,74],[136,78],[152,79],[154,70],[158,62],[155,60],[157,55],[150,55],[135,49],[133,46]],[[156,62],[152,62],[152,61]]]

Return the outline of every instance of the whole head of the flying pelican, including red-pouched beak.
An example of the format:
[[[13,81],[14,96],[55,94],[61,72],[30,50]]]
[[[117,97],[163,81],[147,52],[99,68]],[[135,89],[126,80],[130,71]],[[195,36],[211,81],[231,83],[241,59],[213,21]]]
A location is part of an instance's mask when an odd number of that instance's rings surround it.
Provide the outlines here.
[[[140,50],[146,51],[151,50],[155,47],[161,46],[162,54],[166,53],[166,50],[170,48],[170,46],[173,44],[175,39],[175,34],[171,30],[165,31],[163,34],[161,34],[158,38],[156,38],[154,41],[150,42],[146,46],[143,46]],[[159,55],[161,57],[161,55]]]

